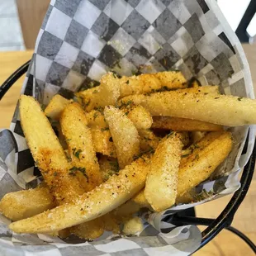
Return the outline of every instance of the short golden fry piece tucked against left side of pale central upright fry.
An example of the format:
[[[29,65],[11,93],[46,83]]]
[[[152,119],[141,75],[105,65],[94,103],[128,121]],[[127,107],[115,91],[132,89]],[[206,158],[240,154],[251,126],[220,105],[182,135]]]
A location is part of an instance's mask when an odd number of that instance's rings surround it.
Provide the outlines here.
[[[92,142],[97,153],[116,158],[116,146],[113,143],[111,133],[106,128],[92,128]]]

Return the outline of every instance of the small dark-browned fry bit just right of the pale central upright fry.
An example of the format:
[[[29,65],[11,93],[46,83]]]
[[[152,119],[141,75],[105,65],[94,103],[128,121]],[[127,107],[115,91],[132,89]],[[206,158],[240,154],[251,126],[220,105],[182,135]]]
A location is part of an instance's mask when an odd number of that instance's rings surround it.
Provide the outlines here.
[[[140,135],[140,149],[143,152],[147,152],[152,149],[156,149],[159,145],[159,137],[154,135],[151,130],[138,130]]]

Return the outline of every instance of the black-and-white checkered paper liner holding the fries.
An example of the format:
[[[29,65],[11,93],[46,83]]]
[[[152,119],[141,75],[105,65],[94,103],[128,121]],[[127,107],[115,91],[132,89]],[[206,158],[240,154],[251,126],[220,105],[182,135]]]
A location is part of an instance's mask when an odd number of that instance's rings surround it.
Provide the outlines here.
[[[145,68],[149,65],[151,69]],[[44,107],[56,93],[73,97],[109,70],[121,75],[180,69],[202,85],[220,85],[225,94],[254,97],[249,67],[239,40],[214,0],[52,0],[36,40],[21,93]],[[238,174],[254,145],[254,129],[231,129],[234,148],[210,180],[203,201],[151,214],[138,236],[104,234],[92,243],[47,235],[17,235],[0,216],[0,254],[8,255],[187,255],[201,241],[197,227],[175,227],[164,216],[222,197],[239,188]],[[245,140],[247,138],[247,140]],[[0,198],[36,187],[40,172],[21,129],[18,106],[10,130],[0,131]],[[216,201],[217,203],[217,201]]]

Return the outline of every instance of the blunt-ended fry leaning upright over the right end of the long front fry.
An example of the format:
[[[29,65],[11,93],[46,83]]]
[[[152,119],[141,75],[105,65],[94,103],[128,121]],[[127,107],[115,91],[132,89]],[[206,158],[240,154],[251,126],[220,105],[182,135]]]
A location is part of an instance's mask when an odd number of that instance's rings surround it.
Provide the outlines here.
[[[180,135],[173,133],[155,150],[145,185],[145,198],[154,211],[164,211],[176,200],[182,148]]]

